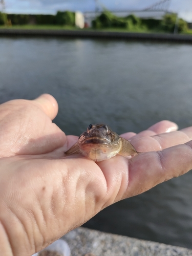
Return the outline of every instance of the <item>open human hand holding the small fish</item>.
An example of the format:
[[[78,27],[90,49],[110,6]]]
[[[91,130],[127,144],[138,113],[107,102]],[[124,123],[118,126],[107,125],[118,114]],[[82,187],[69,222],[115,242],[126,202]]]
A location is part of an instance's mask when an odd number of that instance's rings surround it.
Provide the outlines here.
[[[125,133],[139,152],[95,163],[63,157],[75,136],[52,123],[51,95],[0,105],[0,252],[31,255],[80,226],[104,207],[143,193],[192,168],[192,127],[161,121]],[[65,113],[64,113],[65,115]],[[169,133],[170,132],[170,133]]]

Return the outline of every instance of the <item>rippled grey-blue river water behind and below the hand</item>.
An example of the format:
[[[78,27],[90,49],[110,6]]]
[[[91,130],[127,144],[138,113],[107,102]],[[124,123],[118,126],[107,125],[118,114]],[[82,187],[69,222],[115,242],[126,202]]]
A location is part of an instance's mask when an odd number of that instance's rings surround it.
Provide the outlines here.
[[[123,40],[0,38],[0,102],[50,93],[55,123],[121,134],[169,119],[192,125],[192,46]],[[118,202],[84,226],[192,248],[192,173]]]

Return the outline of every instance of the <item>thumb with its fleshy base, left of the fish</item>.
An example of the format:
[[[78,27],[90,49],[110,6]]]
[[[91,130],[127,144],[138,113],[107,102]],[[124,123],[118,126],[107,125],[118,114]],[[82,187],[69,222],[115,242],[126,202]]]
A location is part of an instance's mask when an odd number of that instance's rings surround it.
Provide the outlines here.
[[[65,143],[65,134],[50,120],[58,110],[51,95],[11,100],[0,107],[0,157],[45,154]]]

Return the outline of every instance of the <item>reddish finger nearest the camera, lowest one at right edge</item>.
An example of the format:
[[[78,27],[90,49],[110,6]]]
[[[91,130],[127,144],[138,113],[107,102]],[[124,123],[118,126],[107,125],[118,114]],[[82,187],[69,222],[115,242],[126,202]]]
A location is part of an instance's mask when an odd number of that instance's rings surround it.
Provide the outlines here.
[[[140,154],[129,164],[126,197],[135,196],[192,168],[192,141],[159,152]]]

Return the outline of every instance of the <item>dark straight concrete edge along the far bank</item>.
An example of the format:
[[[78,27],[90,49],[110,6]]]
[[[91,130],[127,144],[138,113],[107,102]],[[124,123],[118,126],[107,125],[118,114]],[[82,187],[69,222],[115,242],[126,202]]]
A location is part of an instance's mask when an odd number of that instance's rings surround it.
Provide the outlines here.
[[[105,32],[86,30],[46,30],[46,29],[0,29],[0,36],[59,36],[111,39],[140,39],[192,43],[192,35],[158,33]]]

